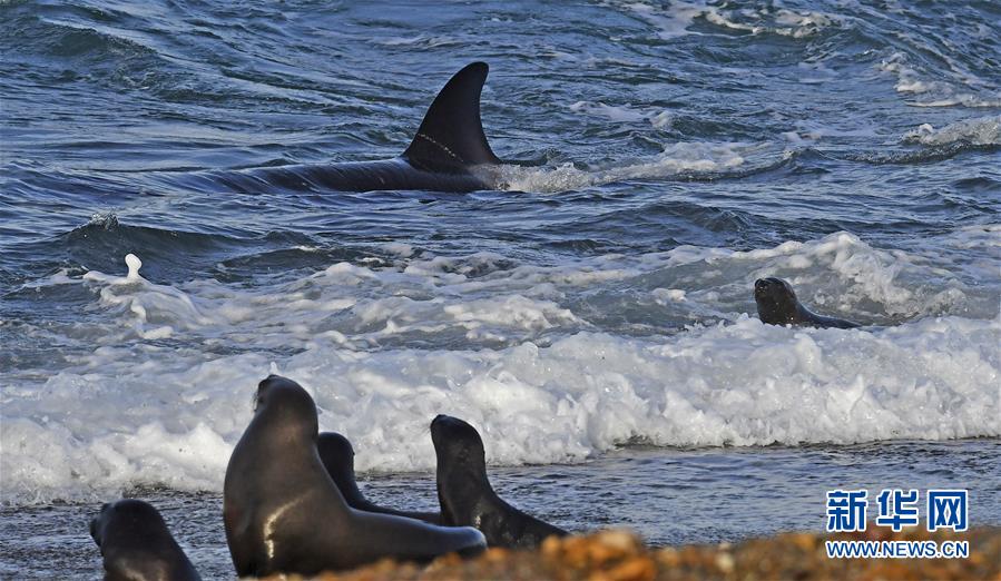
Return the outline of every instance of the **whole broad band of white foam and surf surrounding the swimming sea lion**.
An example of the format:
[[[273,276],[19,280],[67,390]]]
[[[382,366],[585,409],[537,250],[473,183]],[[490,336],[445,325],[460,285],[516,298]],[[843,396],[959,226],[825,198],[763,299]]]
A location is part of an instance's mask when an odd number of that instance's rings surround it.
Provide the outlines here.
[[[1001,226],[975,226],[907,252],[847,233],[557,266],[401,252],[390,266],[252,287],[91,272],[71,284],[92,290],[96,317],[27,331],[88,348],[0,384],[3,501],[217,491],[268,373],[306,386],[360,470],[432,467],[438,413],[477,425],[507,464],[629,441],[998,436],[999,250]],[[875,325],[763,325],[748,313],[764,275],[816,311]],[[646,332],[618,323],[621,308],[648,313]]]

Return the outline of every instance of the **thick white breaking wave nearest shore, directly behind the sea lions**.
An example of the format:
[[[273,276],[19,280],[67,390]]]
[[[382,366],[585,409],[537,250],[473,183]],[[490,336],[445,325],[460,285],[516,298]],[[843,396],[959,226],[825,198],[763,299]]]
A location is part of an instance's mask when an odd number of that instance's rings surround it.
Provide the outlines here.
[[[999,338],[998,319],[801,331],[743,318],[660,339],[579,333],[548,347],[316,348],[279,361],[106,347],[4,406],[4,502],[218,491],[272,371],[311,391],[321,427],[355,442],[363,471],[433,469],[438,413],[477,425],[501,464],[575,462],[630,442],[998,436]]]

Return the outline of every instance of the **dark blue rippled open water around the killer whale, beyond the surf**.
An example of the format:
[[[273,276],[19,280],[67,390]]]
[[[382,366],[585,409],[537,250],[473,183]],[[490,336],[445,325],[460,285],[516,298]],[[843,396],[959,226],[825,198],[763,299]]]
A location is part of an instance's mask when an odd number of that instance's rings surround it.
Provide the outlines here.
[[[295,243],[349,257],[403,240],[559,262],[840,229],[901,245],[997,219],[994,2],[946,13],[879,2],[0,10],[8,290],[60,266],[111,269],[140,247],[173,257],[149,265],[170,282],[247,255],[258,258],[239,270],[253,276]],[[551,179],[542,189],[560,195],[546,196],[268,184],[234,194],[202,175],[398,155],[434,92],[472,60],[492,68],[483,118],[503,159],[597,171],[678,144],[730,144],[747,160],[603,186]],[[905,83],[929,88],[901,92]],[[600,106],[629,112],[609,118]],[[993,122],[987,142],[904,139],[971,118]],[[708,155],[725,166],[720,157]],[[88,233],[96,213],[118,224]]]

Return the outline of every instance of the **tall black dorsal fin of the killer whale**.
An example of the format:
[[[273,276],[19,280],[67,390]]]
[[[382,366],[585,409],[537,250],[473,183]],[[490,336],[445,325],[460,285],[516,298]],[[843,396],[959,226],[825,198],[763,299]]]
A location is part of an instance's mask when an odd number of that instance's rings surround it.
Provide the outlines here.
[[[490,150],[480,121],[480,91],[485,62],[467,65],[442,88],[403,157],[433,171],[460,171],[479,164],[500,164]]]

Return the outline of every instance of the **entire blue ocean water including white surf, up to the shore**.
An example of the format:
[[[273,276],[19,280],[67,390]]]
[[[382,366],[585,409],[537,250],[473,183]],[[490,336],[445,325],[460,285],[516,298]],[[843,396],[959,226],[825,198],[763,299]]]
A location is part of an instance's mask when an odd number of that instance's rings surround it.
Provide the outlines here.
[[[824,492],[963,486],[1001,524],[997,2],[0,2],[0,574],[100,575],[161,508],[230,574],[256,383],[302,383],[371,494],[428,425],[498,488],[651,542],[820,530]],[[493,190],[246,168],[400,154],[491,73]],[[788,279],[858,329],[763,325]]]

